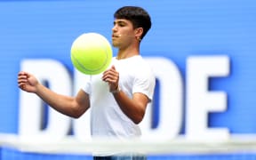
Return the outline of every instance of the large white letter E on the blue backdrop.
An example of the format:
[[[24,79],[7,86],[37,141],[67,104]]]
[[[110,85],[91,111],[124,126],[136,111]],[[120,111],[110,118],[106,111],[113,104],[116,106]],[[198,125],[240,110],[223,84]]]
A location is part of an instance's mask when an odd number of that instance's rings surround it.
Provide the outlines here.
[[[187,62],[186,136],[189,140],[227,140],[228,129],[208,128],[208,114],[227,109],[226,92],[208,91],[209,77],[228,76],[227,56],[192,56]]]

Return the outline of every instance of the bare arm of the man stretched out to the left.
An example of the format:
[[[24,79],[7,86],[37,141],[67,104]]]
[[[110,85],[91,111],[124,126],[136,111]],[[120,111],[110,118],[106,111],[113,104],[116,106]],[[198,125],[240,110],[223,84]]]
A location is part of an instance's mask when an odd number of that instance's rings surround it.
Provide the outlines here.
[[[52,92],[52,90],[40,84],[35,76],[26,72],[19,73],[18,84],[21,90],[36,93],[45,103],[64,115],[78,118],[90,108],[89,95],[83,90],[80,90],[76,97],[61,95]]]

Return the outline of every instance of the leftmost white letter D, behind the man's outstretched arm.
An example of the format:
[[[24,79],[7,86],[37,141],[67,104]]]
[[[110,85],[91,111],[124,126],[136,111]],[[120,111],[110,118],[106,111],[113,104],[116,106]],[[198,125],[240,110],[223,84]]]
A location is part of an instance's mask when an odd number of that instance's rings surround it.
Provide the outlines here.
[[[22,60],[20,69],[34,74],[39,82],[47,81],[54,92],[71,95],[72,81],[68,70],[57,60]],[[48,124],[41,129],[43,122],[43,100],[34,93],[20,91],[19,134],[23,139],[61,139],[70,129],[70,117],[61,115],[49,108]],[[38,137],[40,136],[40,137]]]

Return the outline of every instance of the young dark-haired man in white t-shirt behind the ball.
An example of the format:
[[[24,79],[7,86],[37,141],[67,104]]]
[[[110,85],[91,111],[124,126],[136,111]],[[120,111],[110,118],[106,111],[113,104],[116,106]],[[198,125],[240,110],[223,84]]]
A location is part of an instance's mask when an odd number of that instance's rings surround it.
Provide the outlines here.
[[[102,74],[88,76],[76,97],[52,92],[27,72],[21,71],[18,75],[21,90],[36,93],[64,115],[78,118],[90,108],[92,138],[139,137],[138,124],[155,88],[155,76],[140,56],[140,41],[151,28],[148,12],[140,7],[125,6],[118,9],[114,17],[112,44],[118,48],[117,56]],[[118,157],[112,154],[94,156],[94,159]],[[125,157],[132,159],[132,156]]]

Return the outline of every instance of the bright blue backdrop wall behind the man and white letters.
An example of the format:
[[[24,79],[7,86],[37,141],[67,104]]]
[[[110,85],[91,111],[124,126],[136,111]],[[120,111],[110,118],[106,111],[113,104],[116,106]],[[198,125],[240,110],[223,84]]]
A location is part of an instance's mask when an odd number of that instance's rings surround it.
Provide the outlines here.
[[[18,132],[20,60],[60,60],[72,72],[69,51],[75,38],[98,32],[110,41],[113,13],[123,5],[140,5],[151,14],[153,26],[141,54],[173,60],[184,79],[189,55],[228,55],[230,76],[210,85],[228,93],[228,110],[212,113],[209,125],[256,132],[253,0],[0,1],[0,132]]]

